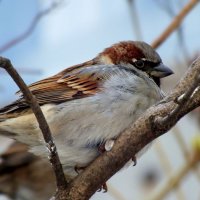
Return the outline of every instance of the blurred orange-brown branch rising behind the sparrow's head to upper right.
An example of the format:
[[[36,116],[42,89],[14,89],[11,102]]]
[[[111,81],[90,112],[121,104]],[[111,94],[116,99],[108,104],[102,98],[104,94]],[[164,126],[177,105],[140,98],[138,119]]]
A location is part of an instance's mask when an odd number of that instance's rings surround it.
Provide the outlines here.
[[[188,4],[180,11],[180,13],[174,18],[167,29],[152,43],[153,48],[158,48],[168,37],[177,29],[184,17],[199,3],[199,0],[190,0]]]

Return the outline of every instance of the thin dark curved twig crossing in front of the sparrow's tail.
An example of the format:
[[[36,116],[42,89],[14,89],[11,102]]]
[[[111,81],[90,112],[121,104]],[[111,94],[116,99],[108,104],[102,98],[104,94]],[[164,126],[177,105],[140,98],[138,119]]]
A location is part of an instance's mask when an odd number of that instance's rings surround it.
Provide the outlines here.
[[[8,74],[12,77],[12,79],[15,81],[15,83],[18,85],[21,92],[23,93],[23,96],[26,99],[27,103],[31,107],[37,119],[37,122],[39,124],[39,127],[43,133],[43,137],[46,142],[47,148],[49,150],[50,162],[53,166],[53,170],[56,176],[57,188],[60,190],[63,190],[64,188],[66,188],[67,182],[65,179],[62,165],[60,163],[60,159],[58,157],[56,146],[52,139],[50,128],[41,111],[41,108],[37,102],[37,99],[28,89],[27,85],[24,83],[24,81],[22,80],[20,75],[17,73],[17,71],[14,69],[10,60],[0,57],[0,67],[5,69],[8,72]]]

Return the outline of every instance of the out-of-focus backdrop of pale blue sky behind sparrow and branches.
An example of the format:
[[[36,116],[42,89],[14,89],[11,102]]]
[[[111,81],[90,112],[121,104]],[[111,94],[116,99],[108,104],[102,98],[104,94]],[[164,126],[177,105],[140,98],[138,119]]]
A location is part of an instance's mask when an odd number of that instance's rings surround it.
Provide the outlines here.
[[[188,2],[1,0],[0,54],[12,61],[29,84],[89,60],[119,41],[151,44]],[[163,82],[166,93],[200,55],[199,21],[197,4],[157,49],[175,72]],[[0,69],[0,106],[13,101],[17,90]],[[11,140],[0,138],[0,200],[48,199],[54,192],[49,164],[25,153],[26,147],[10,144]],[[199,149],[200,110],[196,109],[157,139],[135,167],[113,176],[107,193],[97,192],[92,199],[199,200]],[[40,174],[42,170],[46,171]]]

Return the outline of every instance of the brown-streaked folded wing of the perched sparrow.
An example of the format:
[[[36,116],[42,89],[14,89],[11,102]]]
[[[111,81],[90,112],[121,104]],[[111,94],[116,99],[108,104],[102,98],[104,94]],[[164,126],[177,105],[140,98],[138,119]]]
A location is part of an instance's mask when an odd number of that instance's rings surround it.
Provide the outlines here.
[[[29,86],[40,105],[62,103],[95,95],[102,83],[119,71],[118,65],[79,65],[68,68],[59,74],[43,79]],[[1,114],[13,115],[29,107],[23,95],[12,104],[0,109]]]

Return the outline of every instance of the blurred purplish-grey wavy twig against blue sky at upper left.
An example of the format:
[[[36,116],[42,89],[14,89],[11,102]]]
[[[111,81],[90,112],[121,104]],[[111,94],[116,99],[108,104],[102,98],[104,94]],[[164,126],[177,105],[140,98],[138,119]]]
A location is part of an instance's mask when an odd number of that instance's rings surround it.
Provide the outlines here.
[[[9,48],[15,46],[16,44],[20,43],[21,41],[25,40],[28,36],[33,33],[35,30],[37,24],[39,21],[47,14],[51,13],[53,10],[55,10],[59,5],[61,1],[54,1],[49,8],[46,8],[45,10],[42,10],[38,12],[35,17],[32,19],[32,22],[30,23],[30,26],[25,30],[23,33],[21,33],[16,38],[10,40],[6,44],[0,47],[0,54],[8,50]]]

